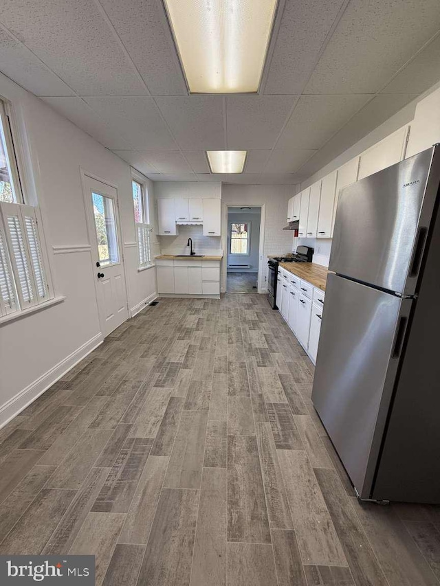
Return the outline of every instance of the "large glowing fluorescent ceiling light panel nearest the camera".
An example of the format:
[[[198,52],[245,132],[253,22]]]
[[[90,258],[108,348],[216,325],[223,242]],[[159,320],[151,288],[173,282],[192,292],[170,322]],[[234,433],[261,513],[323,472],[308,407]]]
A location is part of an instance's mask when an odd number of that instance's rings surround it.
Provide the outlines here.
[[[278,0],[163,0],[191,93],[255,93]]]

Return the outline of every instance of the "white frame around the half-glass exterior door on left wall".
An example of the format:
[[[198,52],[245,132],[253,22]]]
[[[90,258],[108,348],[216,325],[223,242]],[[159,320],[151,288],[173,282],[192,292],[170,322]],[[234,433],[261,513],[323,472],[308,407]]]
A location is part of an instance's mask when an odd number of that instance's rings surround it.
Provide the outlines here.
[[[96,173],[92,173],[90,171],[85,170],[83,167],[80,167],[80,177],[81,177],[81,188],[83,189],[83,201],[84,201],[84,212],[85,212],[85,220],[86,220],[86,225],[87,225],[87,238],[89,239],[89,245],[90,245],[90,265],[91,265],[91,273],[92,273],[92,278],[94,280],[94,287],[95,287],[95,298],[96,298],[96,311],[98,311],[98,320],[100,323],[100,330],[101,330],[101,334],[102,334],[102,339],[104,339],[105,337],[105,324],[102,324],[102,316],[101,316],[101,312],[99,309],[99,295],[98,295],[98,282],[96,280],[96,270],[94,267],[94,257],[93,257],[93,249],[92,247],[95,245],[94,242],[90,241],[90,236],[91,234],[94,234],[96,227],[94,225],[91,225],[91,218],[89,217],[89,193],[87,190],[87,185],[86,185],[86,177],[89,177],[90,179],[96,179],[96,181],[100,181],[100,183],[104,183],[104,185],[109,185],[109,187],[115,189],[118,192],[118,197],[115,201],[115,214],[116,214],[116,227],[118,229],[118,247],[119,247],[119,253],[120,253],[120,262],[122,264],[122,270],[124,271],[124,281],[125,281],[125,302],[126,302],[126,306],[127,306],[127,310],[128,310],[128,315],[130,316],[130,310],[129,310],[129,289],[128,289],[128,281],[127,281],[127,275],[126,275],[126,266],[125,266],[125,259],[124,259],[124,240],[122,238],[122,223],[121,223],[121,218],[120,218],[120,212],[119,212],[119,188],[118,185],[116,185],[116,183],[111,183],[111,181],[109,181],[108,179],[104,179],[103,177],[100,177],[99,175],[97,175]]]

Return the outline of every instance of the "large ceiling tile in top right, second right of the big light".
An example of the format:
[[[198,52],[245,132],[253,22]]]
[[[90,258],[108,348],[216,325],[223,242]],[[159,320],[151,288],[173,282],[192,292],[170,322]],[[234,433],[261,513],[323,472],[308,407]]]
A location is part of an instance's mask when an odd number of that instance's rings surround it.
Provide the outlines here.
[[[438,0],[351,0],[305,93],[375,93],[439,29]]]

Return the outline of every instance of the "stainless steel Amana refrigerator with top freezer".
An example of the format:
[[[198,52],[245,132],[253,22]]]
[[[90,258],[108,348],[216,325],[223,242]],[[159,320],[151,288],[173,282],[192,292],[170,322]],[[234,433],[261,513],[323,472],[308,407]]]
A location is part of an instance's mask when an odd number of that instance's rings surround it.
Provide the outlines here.
[[[440,146],[342,190],[312,400],[361,499],[440,503]]]

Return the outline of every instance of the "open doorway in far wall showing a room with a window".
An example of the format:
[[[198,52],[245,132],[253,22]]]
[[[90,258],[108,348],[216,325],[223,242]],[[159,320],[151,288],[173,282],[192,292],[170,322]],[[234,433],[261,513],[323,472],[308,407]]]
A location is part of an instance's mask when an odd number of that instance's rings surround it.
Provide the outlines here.
[[[257,293],[261,206],[228,206],[226,291]]]

